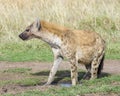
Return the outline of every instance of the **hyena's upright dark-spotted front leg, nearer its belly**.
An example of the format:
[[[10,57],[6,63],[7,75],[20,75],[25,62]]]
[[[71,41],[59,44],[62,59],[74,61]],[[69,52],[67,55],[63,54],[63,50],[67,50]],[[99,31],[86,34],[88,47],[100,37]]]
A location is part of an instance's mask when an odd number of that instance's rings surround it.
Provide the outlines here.
[[[70,60],[71,64],[71,80],[72,85],[76,85],[78,83],[78,63],[76,62],[76,59]]]

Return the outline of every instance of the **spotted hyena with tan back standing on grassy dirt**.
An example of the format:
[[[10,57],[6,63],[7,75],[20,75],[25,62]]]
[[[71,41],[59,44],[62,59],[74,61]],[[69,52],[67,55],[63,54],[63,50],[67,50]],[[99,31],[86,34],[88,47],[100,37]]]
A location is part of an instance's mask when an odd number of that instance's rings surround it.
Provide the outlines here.
[[[94,79],[103,67],[105,42],[96,32],[72,30],[44,20],[36,20],[19,37],[22,40],[38,38],[48,43],[54,54],[54,63],[46,84],[51,84],[63,58],[71,65],[72,85],[78,83],[78,64],[85,65],[83,78]]]

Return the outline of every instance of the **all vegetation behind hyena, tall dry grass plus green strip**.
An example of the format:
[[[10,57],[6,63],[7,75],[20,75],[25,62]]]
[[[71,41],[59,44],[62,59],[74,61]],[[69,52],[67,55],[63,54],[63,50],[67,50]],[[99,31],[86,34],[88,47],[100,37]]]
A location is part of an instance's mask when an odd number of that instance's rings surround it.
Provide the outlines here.
[[[38,17],[100,33],[107,42],[106,58],[120,59],[119,0],[0,0],[0,60],[52,60],[50,48],[42,41],[18,38]]]

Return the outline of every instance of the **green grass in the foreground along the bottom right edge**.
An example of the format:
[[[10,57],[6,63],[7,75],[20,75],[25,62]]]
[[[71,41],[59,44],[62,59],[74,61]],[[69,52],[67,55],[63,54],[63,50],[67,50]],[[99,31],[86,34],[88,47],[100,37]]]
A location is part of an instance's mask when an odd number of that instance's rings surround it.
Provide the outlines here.
[[[34,83],[33,83],[34,84]],[[108,76],[96,80],[82,81],[73,87],[50,88],[47,91],[31,90],[15,96],[77,96],[82,94],[120,93],[120,76]],[[3,95],[9,96],[9,95]],[[11,95],[13,96],[13,95]]]

